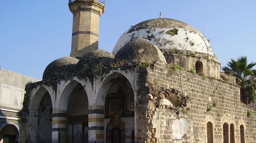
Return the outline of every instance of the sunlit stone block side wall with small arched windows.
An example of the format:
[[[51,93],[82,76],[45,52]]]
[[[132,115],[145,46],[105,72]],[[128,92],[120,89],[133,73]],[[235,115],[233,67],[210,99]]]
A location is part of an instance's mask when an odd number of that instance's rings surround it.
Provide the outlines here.
[[[254,143],[254,133],[256,132],[256,112],[253,107],[249,107],[240,101],[239,86],[233,83],[216,78],[203,78],[186,71],[170,71],[166,65],[156,63],[154,70],[147,69],[147,82],[158,84],[163,89],[173,88],[180,92],[185,92],[189,97],[187,106],[190,111],[186,114],[176,115],[170,109],[152,108],[152,128],[157,130],[155,138],[158,142],[171,143],[206,143],[206,124],[211,121],[213,124],[213,142],[223,142],[223,124],[231,123],[235,126],[235,142],[240,142],[240,125],[245,127],[245,142]],[[211,111],[207,109],[212,107]],[[148,108],[148,110],[150,110]],[[247,117],[247,111],[252,112],[251,117]],[[178,119],[178,120],[177,120]],[[182,119],[182,121],[180,121]],[[187,122],[187,128],[182,126]],[[178,125],[178,129],[173,129],[171,125]],[[178,131],[177,131],[178,130]],[[148,132],[151,132],[148,130]],[[174,136],[172,133],[176,132]],[[178,132],[178,133],[177,133]],[[150,133],[152,134],[152,132]],[[180,138],[180,136],[182,136]]]

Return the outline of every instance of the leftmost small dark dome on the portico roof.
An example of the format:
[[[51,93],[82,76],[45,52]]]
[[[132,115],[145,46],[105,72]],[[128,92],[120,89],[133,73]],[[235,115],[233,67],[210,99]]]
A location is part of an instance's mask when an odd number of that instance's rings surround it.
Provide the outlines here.
[[[74,69],[78,61],[78,59],[72,57],[63,57],[54,60],[45,68],[43,80],[63,78],[63,76],[69,74]]]

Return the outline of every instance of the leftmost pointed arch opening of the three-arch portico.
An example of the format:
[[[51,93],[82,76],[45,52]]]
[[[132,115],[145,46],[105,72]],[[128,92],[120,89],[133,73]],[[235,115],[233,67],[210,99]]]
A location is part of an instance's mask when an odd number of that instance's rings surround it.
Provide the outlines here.
[[[34,95],[30,109],[31,141],[52,141],[52,99],[44,87]]]

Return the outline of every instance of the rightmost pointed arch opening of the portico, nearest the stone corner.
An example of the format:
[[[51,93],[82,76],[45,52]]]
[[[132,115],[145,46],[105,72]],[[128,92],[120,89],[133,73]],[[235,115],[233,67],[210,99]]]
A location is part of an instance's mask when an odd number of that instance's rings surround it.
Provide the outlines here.
[[[132,141],[135,129],[135,91],[126,74],[114,72],[106,76],[99,88],[96,105],[104,110],[106,141],[127,138]],[[117,134],[117,129],[127,130]]]

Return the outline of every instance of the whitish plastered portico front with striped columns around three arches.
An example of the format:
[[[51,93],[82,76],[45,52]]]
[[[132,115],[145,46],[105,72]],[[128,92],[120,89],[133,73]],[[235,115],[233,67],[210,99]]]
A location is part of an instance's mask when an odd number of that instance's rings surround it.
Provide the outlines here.
[[[40,103],[42,94],[47,91],[51,96],[53,108],[52,138],[58,138],[58,132],[64,131],[67,127],[69,96],[76,85],[81,84],[88,97],[89,138],[104,138],[104,104],[106,93],[109,86],[113,83],[113,79],[121,75],[131,84],[131,92],[134,93],[134,98],[136,98],[135,89],[137,88],[138,75],[134,69],[127,71],[115,70],[102,76],[87,76],[80,79],[72,77],[69,80],[62,80],[58,83],[37,83],[37,86],[30,91],[30,116],[29,123],[26,124],[28,125],[28,134],[24,136],[26,136],[28,141],[36,141],[38,108],[35,105]],[[130,104],[127,104],[127,106],[133,107]]]

